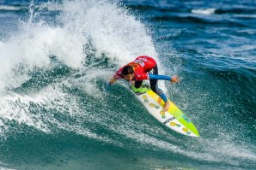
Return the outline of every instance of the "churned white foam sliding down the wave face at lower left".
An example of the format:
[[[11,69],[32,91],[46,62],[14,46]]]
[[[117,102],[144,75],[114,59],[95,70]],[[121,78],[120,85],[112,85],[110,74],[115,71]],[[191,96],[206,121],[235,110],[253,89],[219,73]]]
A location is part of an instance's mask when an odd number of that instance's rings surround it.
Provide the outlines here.
[[[61,84],[49,85],[37,93],[19,95],[12,93],[0,99],[0,130],[1,136],[14,134],[15,129],[9,127],[9,122],[15,122],[16,126],[26,125],[38,129],[40,132],[52,133],[63,129],[64,131],[76,132],[87,138],[95,138],[107,143],[113,141],[107,137],[92,132],[86,126],[82,126],[85,119],[96,122],[94,115],[84,113],[76,97],[61,91],[62,85],[69,86],[67,81]],[[41,108],[44,108],[41,110]],[[34,111],[31,111],[33,109]],[[54,110],[54,115],[51,110]],[[76,122],[58,120],[60,114],[70,118],[76,117]],[[61,116],[61,115],[60,115]]]

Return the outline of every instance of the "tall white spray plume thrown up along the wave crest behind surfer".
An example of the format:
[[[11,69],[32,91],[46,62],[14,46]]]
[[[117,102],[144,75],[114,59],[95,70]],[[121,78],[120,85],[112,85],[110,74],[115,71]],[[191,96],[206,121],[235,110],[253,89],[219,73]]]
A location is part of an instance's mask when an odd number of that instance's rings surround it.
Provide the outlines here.
[[[46,21],[35,23],[33,17],[38,15],[32,15],[19,32],[0,44],[0,93],[30,79],[27,73],[34,67],[47,69],[49,56],[56,56],[68,67],[82,69],[90,52],[84,51],[83,45],[88,43],[93,44],[95,57],[105,54],[118,66],[141,55],[158,60],[146,27],[117,4],[78,0],[64,1],[61,8],[61,26],[50,26]]]

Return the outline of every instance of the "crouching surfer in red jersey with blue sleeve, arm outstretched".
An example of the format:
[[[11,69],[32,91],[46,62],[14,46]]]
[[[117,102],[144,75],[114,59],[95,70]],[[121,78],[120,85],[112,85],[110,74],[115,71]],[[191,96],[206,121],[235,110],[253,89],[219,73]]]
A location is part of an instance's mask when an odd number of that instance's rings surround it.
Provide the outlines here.
[[[149,79],[150,88],[158,94],[165,102],[163,111],[168,111],[171,103],[165,96],[163,91],[158,87],[157,80],[164,79],[171,83],[180,81],[180,77],[169,77],[166,75],[158,75],[158,68],[155,60],[149,56],[138,56],[133,62],[126,64],[124,67],[119,68],[119,71],[114,73],[113,78],[110,79],[109,85],[113,85],[118,79],[125,79],[131,82],[136,88],[143,84],[144,79]]]

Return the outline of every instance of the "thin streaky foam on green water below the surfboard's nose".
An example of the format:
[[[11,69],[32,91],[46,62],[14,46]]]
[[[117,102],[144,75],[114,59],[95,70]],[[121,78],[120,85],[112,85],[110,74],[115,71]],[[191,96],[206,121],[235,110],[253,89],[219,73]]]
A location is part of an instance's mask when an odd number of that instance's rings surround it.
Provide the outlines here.
[[[109,128],[114,132],[125,135],[125,138],[140,143],[137,145],[138,147],[166,150],[186,155],[198,161],[222,162],[234,166],[245,160],[256,161],[256,155],[253,154],[253,150],[250,149],[248,144],[235,144],[235,139],[227,134],[219,134],[216,138],[201,137],[184,141],[182,138],[173,137],[172,133],[165,132],[161,127],[155,126],[152,128],[149,124],[139,120],[134,121],[126,118],[124,114],[122,116],[122,120],[125,121],[123,126],[115,125],[109,126]],[[155,134],[167,138],[155,138]],[[180,147],[182,145],[190,146],[190,149]],[[129,144],[123,147],[129,147]]]

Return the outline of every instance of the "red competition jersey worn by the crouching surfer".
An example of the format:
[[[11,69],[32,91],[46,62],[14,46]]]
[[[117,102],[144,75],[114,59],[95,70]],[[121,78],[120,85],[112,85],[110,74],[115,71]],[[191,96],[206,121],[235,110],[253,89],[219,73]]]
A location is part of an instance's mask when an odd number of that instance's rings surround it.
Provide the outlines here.
[[[141,81],[143,79],[149,79],[149,70],[155,67],[156,62],[153,58],[149,56],[138,56],[133,62],[128,63],[125,66],[131,66],[134,70],[134,79],[137,81]],[[125,67],[124,66],[124,67]],[[113,78],[114,79],[122,79],[122,70],[124,67],[121,67],[119,71],[117,71]]]

